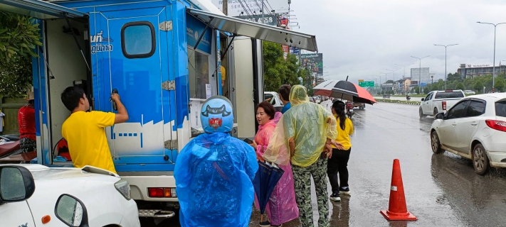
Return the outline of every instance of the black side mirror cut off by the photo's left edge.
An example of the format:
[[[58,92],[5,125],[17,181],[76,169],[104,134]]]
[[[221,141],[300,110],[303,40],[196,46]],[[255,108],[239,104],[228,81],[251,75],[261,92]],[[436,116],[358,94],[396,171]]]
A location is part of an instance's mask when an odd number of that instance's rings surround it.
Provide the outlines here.
[[[25,201],[35,192],[30,170],[22,166],[0,167],[0,204]]]

